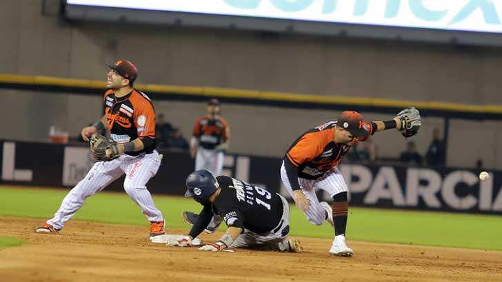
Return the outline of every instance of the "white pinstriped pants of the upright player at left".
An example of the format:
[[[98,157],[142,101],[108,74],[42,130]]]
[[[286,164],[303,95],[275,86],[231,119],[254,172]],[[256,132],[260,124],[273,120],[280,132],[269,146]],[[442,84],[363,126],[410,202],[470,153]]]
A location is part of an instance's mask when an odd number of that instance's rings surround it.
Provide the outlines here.
[[[77,185],[70,190],[52,219],[47,221],[54,228],[63,228],[66,221],[81,208],[86,199],[101,192],[108,184],[125,173],[123,188],[132,201],[139,205],[149,221],[163,221],[162,212],[155,207],[146,183],[159,170],[161,160],[157,151],[132,157],[121,155],[112,161],[98,161]]]

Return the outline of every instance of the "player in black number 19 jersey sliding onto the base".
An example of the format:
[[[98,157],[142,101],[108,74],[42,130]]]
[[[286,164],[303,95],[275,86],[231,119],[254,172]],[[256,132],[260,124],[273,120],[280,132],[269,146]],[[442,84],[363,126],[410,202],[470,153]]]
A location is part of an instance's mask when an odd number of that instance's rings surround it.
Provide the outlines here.
[[[199,250],[221,251],[226,248],[252,248],[301,252],[297,240],[288,239],[290,208],[288,201],[277,193],[270,193],[238,179],[219,176],[208,170],[197,170],[186,179],[185,197],[192,197],[203,205],[197,222],[187,236],[168,242],[174,247],[190,247],[218,214],[228,226],[217,243],[203,245]]]

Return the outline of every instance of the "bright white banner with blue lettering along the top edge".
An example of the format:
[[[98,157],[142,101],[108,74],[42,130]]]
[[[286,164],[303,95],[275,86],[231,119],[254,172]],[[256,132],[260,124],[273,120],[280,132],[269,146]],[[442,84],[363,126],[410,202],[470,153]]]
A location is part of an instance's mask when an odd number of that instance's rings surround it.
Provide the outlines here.
[[[67,3],[295,21],[502,32],[502,0],[67,0]]]

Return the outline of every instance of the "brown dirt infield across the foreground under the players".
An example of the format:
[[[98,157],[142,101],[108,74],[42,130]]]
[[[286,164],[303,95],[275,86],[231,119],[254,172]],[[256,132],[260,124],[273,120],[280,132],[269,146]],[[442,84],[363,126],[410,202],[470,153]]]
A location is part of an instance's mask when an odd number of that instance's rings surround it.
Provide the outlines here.
[[[36,234],[40,223],[0,217],[0,236],[27,241],[0,250],[1,281],[502,281],[502,252],[349,241],[354,256],[341,258],[330,240],[299,238],[301,254],[232,254],[150,243],[142,226],[70,221]]]

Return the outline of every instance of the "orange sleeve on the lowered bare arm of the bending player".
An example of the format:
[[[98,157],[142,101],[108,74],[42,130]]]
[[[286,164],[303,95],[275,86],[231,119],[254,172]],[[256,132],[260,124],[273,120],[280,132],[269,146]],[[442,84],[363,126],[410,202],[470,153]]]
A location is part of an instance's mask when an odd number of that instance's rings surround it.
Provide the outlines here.
[[[288,159],[295,166],[312,161],[323,151],[321,132],[311,132],[301,139],[286,153]]]

